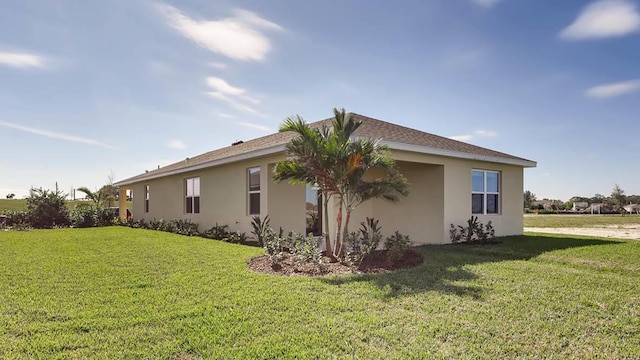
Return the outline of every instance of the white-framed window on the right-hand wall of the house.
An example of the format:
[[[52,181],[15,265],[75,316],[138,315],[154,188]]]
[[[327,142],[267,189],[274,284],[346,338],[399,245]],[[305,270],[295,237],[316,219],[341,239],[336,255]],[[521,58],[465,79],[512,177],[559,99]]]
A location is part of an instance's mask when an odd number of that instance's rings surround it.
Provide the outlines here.
[[[497,171],[471,171],[471,213],[500,213],[500,173]]]

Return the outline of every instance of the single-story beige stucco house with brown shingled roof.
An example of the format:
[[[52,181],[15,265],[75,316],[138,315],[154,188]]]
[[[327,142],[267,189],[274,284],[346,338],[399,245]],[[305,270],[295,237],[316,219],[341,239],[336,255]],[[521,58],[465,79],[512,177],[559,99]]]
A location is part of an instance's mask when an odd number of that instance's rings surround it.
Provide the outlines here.
[[[414,244],[439,244],[450,241],[450,224],[464,224],[474,215],[482,222],[490,220],[497,236],[522,234],[523,172],[536,162],[354,113],[351,116],[362,121],[355,135],[386,144],[410,184],[409,196],[397,203],[377,199],[363,203],[353,213],[352,229],[366,217],[374,217],[380,220],[384,236],[399,230]],[[330,126],[331,121],[311,125]],[[274,165],[286,158],[285,144],[295,136],[275,133],[237,142],[115,185],[120,188],[120,199],[126,198],[127,190],[134,194],[136,220],[189,219],[201,230],[225,224],[231,230],[250,233],[254,215],[269,215],[275,229],[318,232],[323,219],[317,191],[271,180]],[[120,207],[125,206],[121,200]],[[335,207],[329,210],[329,219],[335,219]],[[335,221],[329,225],[334,233]]]

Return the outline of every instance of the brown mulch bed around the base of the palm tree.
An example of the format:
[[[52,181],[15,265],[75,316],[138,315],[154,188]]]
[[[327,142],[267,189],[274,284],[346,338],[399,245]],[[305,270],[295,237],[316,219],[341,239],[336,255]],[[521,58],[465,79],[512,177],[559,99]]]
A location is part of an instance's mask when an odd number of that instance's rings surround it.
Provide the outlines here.
[[[322,258],[322,266],[315,264],[304,264],[296,267],[293,260],[288,257],[280,264],[272,266],[268,255],[261,255],[249,260],[248,267],[250,270],[267,273],[272,275],[303,275],[303,276],[323,276],[323,275],[342,275],[352,273],[380,273],[400,268],[414,267],[422,264],[422,255],[415,250],[408,250],[397,263],[390,264],[387,261],[386,250],[376,250],[369,254],[362,264],[356,269],[348,264],[341,262],[331,262],[328,257]]]

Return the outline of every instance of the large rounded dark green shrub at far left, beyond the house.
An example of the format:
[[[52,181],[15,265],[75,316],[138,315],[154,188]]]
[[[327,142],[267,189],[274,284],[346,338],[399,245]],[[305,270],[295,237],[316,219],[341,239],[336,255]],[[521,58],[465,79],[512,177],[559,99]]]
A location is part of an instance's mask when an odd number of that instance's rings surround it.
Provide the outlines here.
[[[37,229],[49,229],[69,225],[66,195],[59,190],[32,188],[27,197],[29,222]]]

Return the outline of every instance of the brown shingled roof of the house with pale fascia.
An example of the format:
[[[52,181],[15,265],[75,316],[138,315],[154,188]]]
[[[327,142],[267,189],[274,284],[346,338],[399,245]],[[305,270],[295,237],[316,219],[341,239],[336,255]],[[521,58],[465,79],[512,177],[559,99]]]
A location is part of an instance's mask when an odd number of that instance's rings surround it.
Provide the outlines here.
[[[491,161],[523,167],[536,166],[534,161],[486,149],[480,146],[429,134],[420,130],[411,129],[355,113],[351,113],[351,116],[356,120],[362,121],[362,125],[354,133],[355,136],[379,139],[382,143],[388,145],[390,149],[407,150],[463,159]],[[320,127],[323,124],[330,126],[332,120],[333,118],[325,119],[311,123],[310,125],[313,127]],[[115,185],[128,185],[167,175],[179,174],[258,156],[284,152],[285,144],[295,136],[296,134],[293,132],[275,133],[263,136],[257,139],[241,142],[236,145],[209,151],[192,158],[186,158],[180,162],[119,181]]]

